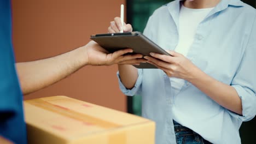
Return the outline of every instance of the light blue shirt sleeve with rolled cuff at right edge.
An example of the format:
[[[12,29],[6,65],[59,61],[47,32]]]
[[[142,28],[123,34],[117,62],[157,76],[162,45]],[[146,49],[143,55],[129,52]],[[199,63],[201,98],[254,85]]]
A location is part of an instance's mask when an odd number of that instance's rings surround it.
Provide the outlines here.
[[[231,86],[236,89],[237,94],[242,100],[242,116],[230,112],[232,116],[241,121],[249,121],[256,115],[256,23],[252,26],[243,57],[236,71],[236,75],[231,82]]]

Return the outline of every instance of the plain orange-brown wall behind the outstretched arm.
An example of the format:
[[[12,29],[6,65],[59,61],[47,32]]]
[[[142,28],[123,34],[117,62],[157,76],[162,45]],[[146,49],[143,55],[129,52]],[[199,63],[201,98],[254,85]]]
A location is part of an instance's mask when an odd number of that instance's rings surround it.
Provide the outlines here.
[[[13,43],[17,62],[52,57],[88,43],[90,35],[106,33],[125,0],[13,0]],[[117,65],[87,66],[25,99],[66,95],[126,111]]]

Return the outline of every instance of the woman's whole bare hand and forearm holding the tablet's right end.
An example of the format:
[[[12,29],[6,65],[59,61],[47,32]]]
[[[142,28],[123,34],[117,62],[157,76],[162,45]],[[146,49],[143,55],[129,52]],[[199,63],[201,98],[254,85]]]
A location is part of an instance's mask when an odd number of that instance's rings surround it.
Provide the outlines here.
[[[152,57],[146,56],[144,58],[148,59],[148,63],[164,70],[169,77],[187,80],[219,105],[239,115],[243,114],[242,100],[234,87],[207,75],[181,53],[174,51],[169,53],[172,56],[152,53]]]

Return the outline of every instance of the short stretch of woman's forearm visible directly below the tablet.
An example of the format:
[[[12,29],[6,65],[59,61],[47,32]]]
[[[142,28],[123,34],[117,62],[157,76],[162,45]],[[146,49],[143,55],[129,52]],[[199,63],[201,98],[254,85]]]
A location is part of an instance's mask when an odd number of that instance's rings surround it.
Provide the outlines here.
[[[134,87],[137,78],[138,78],[138,71],[132,65],[118,65],[119,76],[121,82],[127,89],[131,89]]]

